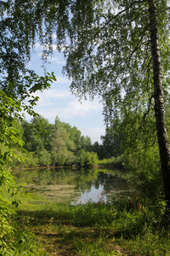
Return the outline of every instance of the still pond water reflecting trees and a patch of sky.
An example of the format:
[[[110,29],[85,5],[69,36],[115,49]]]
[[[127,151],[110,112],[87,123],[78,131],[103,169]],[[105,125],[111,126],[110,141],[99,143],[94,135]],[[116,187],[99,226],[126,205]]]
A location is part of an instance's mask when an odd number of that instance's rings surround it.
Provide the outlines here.
[[[48,201],[112,201],[129,191],[126,172],[110,169],[34,169],[12,172],[18,184],[24,184],[32,195]],[[41,197],[40,197],[41,198]]]

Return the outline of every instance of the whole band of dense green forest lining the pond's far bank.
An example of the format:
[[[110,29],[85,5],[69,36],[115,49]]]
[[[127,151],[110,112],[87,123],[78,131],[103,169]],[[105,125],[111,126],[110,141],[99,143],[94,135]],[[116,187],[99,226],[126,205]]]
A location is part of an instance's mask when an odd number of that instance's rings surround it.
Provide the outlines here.
[[[15,119],[14,126],[20,131],[23,148],[14,148],[18,157],[9,163],[12,168],[94,166],[109,163],[106,160],[111,157],[113,162],[120,152],[116,150],[118,142],[115,143],[109,134],[101,136],[101,144],[93,144],[90,137],[84,137],[76,126],[71,127],[58,117],[54,124],[49,124],[48,119],[40,115],[31,119],[31,122]]]

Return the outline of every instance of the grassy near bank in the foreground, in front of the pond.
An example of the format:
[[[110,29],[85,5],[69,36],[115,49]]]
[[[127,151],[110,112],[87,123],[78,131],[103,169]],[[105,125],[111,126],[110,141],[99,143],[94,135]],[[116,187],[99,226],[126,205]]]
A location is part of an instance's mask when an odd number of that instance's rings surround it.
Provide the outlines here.
[[[170,255],[164,204],[144,206],[137,195],[71,206],[26,198],[13,223],[15,251],[6,255]],[[3,254],[1,254],[3,255]]]

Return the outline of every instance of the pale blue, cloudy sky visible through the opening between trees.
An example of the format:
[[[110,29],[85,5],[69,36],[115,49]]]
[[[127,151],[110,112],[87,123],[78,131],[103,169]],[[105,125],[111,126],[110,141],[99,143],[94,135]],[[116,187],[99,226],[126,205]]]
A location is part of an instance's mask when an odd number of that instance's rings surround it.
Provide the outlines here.
[[[43,75],[41,55],[42,47],[36,44],[28,67],[38,75]],[[65,65],[62,53],[54,50],[54,56],[48,61],[50,64],[46,65],[47,72],[54,72],[57,81],[51,85],[50,89],[36,93],[39,101],[34,110],[43,118],[48,119],[51,124],[54,124],[54,119],[58,116],[61,122],[76,126],[82,135],[90,137],[92,143],[96,141],[101,143],[100,136],[105,135],[105,123],[102,115],[103,106],[99,98],[96,97],[93,102],[90,100],[80,102],[76,96],[71,94],[69,89],[71,81],[62,74],[62,67]],[[26,119],[30,121],[31,117],[26,115]]]

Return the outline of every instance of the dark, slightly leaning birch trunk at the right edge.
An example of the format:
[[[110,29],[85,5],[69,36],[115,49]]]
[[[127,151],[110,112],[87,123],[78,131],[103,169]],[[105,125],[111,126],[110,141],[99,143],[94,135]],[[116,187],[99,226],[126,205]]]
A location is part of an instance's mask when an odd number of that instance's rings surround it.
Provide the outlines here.
[[[161,54],[159,47],[156,0],[148,0],[150,13],[150,42],[154,75],[154,100],[156,130],[161,158],[165,200],[170,207],[170,151],[167,137],[165,108],[162,89]]]

